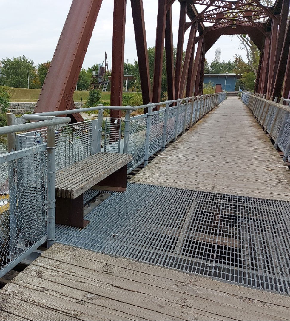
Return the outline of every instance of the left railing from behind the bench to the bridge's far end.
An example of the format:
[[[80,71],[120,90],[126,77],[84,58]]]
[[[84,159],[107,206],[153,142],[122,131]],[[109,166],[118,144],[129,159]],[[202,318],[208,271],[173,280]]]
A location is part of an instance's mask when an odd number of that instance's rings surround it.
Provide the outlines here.
[[[158,150],[164,150],[165,145],[184,133],[210,110],[215,108],[226,97],[226,93],[217,93],[177,99],[160,103],[150,103],[142,106],[126,106],[125,119],[105,119],[103,128],[103,108],[98,107],[75,109],[41,114],[24,115],[27,120],[38,116],[61,116],[84,111],[98,110],[98,119],[77,124],[62,126],[56,132],[56,168],[65,168],[79,160],[87,158],[96,152],[117,152],[132,154],[133,160],[128,164],[128,173],[148,159]],[[176,106],[172,106],[176,104]],[[153,111],[154,107],[166,107]],[[172,106],[172,107],[170,107]],[[106,109],[119,109],[116,106],[106,106]],[[131,117],[134,110],[148,108],[148,113]],[[125,130],[122,130],[125,123]],[[17,135],[19,149],[47,141],[47,130],[41,129],[30,133]],[[103,140],[102,140],[103,134]]]

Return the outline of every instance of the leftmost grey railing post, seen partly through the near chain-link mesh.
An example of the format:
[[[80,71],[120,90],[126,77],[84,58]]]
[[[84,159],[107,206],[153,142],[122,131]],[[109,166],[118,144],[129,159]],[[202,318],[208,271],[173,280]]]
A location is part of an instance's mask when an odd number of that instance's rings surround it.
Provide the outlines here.
[[[6,114],[7,126],[15,125],[15,115]],[[8,153],[15,152],[15,133],[7,134]],[[8,162],[8,189],[9,189],[9,254],[13,256],[15,252],[15,235],[17,235],[17,197],[15,182],[15,161]]]

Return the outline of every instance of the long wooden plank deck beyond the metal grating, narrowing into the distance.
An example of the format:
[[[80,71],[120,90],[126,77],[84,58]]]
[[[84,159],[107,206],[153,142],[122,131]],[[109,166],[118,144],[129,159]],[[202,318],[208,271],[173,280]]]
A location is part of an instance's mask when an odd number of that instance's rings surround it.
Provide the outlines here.
[[[130,181],[290,201],[290,170],[238,98],[224,100]]]

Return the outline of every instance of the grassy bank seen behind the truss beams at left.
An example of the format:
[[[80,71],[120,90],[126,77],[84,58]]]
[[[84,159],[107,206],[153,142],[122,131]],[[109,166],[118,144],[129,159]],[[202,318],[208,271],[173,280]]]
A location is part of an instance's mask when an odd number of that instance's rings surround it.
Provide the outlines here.
[[[12,88],[11,102],[36,102],[40,94],[40,89],[28,89],[28,88]],[[126,94],[126,93],[124,93]],[[135,95],[135,92],[129,92],[129,95]],[[74,93],[75,101],[86,101],[89,96],[89,91],[77,90]],[[102,92],[102,100],[110,101],[110,91]]]

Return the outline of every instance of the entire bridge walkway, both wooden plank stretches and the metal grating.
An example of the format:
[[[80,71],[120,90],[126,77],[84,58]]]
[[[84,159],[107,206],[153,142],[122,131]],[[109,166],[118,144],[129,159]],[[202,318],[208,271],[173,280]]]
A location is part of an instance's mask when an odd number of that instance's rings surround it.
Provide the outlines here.
[[[289,184],[228,98],[84,229],[58,225],[58,243],[0,291],[0,320],[290,320]]]

